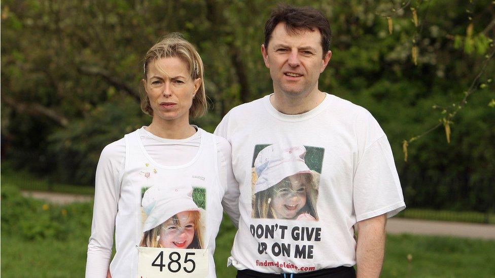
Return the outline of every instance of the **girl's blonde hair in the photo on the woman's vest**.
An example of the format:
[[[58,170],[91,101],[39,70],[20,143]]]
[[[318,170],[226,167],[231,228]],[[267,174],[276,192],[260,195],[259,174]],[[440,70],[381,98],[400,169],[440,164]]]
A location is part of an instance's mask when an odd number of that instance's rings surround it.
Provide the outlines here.
[[[190,211],[189,212],[193,217],[194,223],[194,237],[191,244],[187,247],[188,249],[203,249],[203,224],[201,223],[201,215],[199,211]],[[179,225],[179,218],[175,214],[170,217],[167,221],[161,223],[160,225],[154,227],[151,230],[145,231],[143,233],[143,239],[139,243],[140,247],[160,247],[159,244],[159,235],[162,231],[162,228],[166,229],[166,223],[171,221],[175,225]]]

